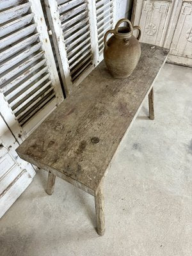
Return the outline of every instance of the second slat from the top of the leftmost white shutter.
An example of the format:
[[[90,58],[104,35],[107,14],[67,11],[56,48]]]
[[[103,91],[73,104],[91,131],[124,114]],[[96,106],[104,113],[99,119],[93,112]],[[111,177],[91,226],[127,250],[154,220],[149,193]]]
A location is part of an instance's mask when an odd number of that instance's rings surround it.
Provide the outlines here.
[[[13,20],[12,22],[6,23],[0,27],[0,37],[8,35],[19,28],[22,28],[28,25],[34,17],[34,13],[30,13],[24,17],[21,17],[17,20]]]

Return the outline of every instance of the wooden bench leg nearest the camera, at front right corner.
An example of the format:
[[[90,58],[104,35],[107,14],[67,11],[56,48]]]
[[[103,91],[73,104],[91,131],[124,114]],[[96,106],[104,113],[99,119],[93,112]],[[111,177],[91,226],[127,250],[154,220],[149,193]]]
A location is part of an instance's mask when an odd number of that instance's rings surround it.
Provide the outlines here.
[[[105,217],[104,217],[104,196],[103,186],[100,184],[99,189],[95,195],[95,212],[97,220],[97,233],[103,236],[105,232]]]

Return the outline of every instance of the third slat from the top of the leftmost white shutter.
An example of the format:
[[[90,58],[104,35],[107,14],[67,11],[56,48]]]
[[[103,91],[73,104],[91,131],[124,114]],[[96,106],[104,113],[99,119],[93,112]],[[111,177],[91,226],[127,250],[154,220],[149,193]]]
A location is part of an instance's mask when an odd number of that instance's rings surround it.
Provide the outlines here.
[[[13,33],[10,36],[6,36],[5,38],[0,40],[0,49],[3,49],[4,47],[7,47],[10,44],[13,44],[17,42],[17,40],[20,40],[21,38],[24,38],[24,36],[28,36],[33,31],[35,31],[36,24],[32,24],[24,29],[21,29],[15,33]]]

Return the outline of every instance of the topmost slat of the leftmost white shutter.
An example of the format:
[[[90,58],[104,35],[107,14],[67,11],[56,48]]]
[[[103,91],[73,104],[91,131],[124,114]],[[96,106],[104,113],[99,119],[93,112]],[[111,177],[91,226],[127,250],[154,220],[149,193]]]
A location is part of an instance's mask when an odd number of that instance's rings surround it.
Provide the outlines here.
[[[19,6],[13,7],[6,11],[1,12],[0,15],[0,24],[7,22],[8,20],[15,19],[20,15],[25,14],[28,12],[31,3],[20,4]]]

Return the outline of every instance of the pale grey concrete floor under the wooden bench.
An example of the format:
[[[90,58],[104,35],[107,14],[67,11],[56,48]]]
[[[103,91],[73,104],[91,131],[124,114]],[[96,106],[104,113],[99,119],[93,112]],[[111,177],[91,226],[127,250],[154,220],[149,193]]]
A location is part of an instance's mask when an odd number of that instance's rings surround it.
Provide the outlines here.
[[[105,181],[106,234],[93,197],[40,171],[0,221],[0,255],[191,256],[192,70],[166,64]]]

